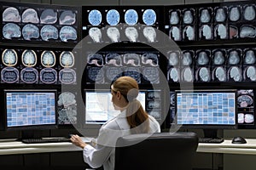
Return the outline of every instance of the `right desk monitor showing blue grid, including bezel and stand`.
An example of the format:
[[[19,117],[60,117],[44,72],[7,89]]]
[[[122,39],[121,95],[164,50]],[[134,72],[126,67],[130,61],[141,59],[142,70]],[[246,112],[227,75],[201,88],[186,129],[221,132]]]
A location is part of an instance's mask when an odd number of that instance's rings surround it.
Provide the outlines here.
[[[236,90],[177,90],[176,122],[204,129],[205,138],[217,138],[218,129],[236,128]]]

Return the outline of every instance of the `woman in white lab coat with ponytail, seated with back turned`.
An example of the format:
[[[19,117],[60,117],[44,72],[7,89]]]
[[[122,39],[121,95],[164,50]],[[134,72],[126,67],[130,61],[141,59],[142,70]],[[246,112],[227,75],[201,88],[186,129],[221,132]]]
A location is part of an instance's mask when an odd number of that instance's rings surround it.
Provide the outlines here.
[[[73,144],[83,149],[84,161],[90,167],[114,169],[116,140],[131,133],[160,133],[160,124],[149,116],[137,100],[138,84],[131,77],[119,77],[111,86],[112,102],[119,116],[102,125],[96,144],[85,144],[78,135],[73,135]]]

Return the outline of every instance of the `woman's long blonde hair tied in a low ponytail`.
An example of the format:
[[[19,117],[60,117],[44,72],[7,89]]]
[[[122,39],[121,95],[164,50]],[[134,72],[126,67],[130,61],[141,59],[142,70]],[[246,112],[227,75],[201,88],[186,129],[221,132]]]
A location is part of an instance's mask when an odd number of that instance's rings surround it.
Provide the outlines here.
[[[132,77],[119,77],[113,82],[113,89],[119,91],[128,102],[126,119],[131,127],[131,133],[148,133],[148,113],[144,111],[141,102],[137,100],[139,89],[137,81]]]

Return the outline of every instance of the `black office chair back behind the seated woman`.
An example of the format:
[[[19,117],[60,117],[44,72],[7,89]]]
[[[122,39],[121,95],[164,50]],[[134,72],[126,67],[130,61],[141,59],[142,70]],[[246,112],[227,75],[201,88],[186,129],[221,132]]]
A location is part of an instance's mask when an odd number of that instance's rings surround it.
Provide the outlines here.
[[[195,133],[132,134],[119,138],[114,170],[191,170],[198,146]]]

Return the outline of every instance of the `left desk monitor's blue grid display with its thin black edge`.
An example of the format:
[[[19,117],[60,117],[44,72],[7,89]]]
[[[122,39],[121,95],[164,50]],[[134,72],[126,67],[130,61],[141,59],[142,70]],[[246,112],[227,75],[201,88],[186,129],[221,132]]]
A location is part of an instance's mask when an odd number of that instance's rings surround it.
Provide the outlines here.
[[[7,129],[51,128],[57,125],[56,90],[4,90]]]

